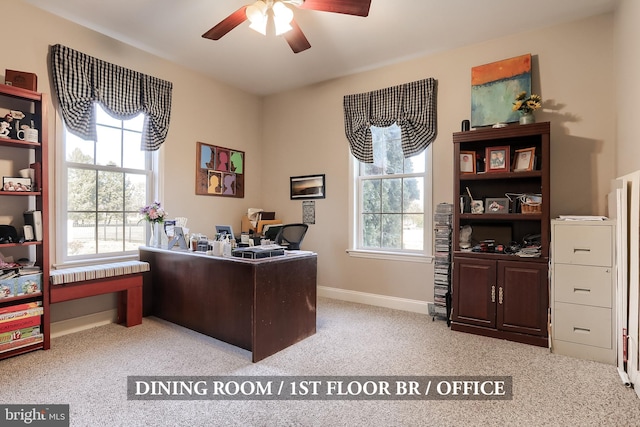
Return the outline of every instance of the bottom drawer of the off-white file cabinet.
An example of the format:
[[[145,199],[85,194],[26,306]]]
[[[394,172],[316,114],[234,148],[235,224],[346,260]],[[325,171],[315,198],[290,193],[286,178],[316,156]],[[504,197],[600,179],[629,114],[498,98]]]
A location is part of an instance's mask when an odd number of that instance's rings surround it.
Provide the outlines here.
[[[557,302],[552,326],[558,340],[612,348],[611,310],[608,308]]]

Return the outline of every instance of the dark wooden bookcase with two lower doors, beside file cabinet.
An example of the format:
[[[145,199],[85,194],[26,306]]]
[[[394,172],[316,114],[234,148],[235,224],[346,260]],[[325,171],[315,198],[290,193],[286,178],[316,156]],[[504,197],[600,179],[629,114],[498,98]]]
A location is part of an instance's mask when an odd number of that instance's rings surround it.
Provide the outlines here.
[[[454,200],[460,204],[453,218],[451,328],[547,346],[550,125],[457,132],[453,142]],[[504,151],[508,160],[502,169],[486,170],[486,157],[494,150]],[[518,162],[523,152],[533,155],[530,168]],[[469,158],[472,168],[464,164]],[[469,193],[483,202],[483,212],[465,209],[462,200]],[[530,196],[541,200],[534,209],[519,204]],[[492,199],[505,198],[501,208],[489,208]],[[463,227],[471,230],[469,247],[460,244]],[[529,256],[517,246],[539,251]]]

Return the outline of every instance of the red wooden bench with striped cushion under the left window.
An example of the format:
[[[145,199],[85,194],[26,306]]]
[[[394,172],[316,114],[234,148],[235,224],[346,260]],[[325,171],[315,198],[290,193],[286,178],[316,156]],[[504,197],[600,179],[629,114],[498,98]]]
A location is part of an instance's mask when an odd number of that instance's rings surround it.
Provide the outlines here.
[[[149,263],[124,261],[52,270],[51,304],[118,292],[118,323],[142,323],[142,273]]]

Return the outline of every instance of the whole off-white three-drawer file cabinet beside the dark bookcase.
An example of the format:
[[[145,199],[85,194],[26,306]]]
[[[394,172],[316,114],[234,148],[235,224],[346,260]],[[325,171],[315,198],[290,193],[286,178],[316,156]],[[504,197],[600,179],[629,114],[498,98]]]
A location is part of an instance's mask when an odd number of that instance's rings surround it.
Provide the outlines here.
[[[551,350],[616,363],[615,221],[551,221]]]

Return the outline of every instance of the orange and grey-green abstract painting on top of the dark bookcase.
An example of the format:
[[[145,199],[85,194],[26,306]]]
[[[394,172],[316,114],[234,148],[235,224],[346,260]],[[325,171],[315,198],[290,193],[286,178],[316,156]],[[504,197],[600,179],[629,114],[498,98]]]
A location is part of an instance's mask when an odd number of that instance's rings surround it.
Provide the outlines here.
[[[517,122],[513,102],[520,92],[531,94],[531,54],[471,69],[471,126]]]

